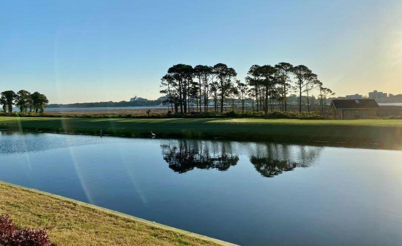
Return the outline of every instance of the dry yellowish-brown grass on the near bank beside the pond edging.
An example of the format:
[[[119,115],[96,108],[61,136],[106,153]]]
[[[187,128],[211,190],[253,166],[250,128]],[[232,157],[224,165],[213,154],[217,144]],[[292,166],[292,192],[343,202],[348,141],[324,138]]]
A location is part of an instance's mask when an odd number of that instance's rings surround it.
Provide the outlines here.
[[[21,228],[45,228],[57,245],[219,245],[180,230],[0,182],[0,213]]]

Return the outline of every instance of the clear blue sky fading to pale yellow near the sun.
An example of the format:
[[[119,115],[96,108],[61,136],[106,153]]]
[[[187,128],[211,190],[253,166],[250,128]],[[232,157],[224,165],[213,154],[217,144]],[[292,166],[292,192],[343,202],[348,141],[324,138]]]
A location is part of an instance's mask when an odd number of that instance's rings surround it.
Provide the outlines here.
[[[0,91],[161,96],[178,63],[306,65],[337,96],[402,93],[402,1],[0,0]]]

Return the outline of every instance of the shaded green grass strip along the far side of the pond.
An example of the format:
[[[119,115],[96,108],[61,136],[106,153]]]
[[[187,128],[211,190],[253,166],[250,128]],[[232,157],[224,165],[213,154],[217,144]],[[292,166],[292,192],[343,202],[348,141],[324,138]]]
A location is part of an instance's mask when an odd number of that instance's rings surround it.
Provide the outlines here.
[[[402,143],[402,120],[119,119],[0,117],[0,128],[114,136]]]

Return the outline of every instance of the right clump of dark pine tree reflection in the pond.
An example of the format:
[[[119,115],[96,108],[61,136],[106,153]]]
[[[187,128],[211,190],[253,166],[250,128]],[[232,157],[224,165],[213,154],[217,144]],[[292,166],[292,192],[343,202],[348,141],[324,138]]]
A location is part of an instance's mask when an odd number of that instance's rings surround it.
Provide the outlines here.
[[[263,143],[250,147],[250,162],[264,177],[274,177],[296,167],[309,167],[323,147]]]

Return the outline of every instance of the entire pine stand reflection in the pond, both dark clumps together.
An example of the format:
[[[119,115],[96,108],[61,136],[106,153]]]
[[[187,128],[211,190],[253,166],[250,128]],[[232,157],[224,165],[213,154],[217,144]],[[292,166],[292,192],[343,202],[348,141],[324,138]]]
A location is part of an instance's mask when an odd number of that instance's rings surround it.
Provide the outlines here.
[[[175,172],[184,173],[194,168],[226,171],[238,163],[239,154],[247,154],[251,164],[264,177],[274,177],[296,167],[309,167],[320,156],[323,148],[186,139],[166,140],[160,146],[163,159]]]

